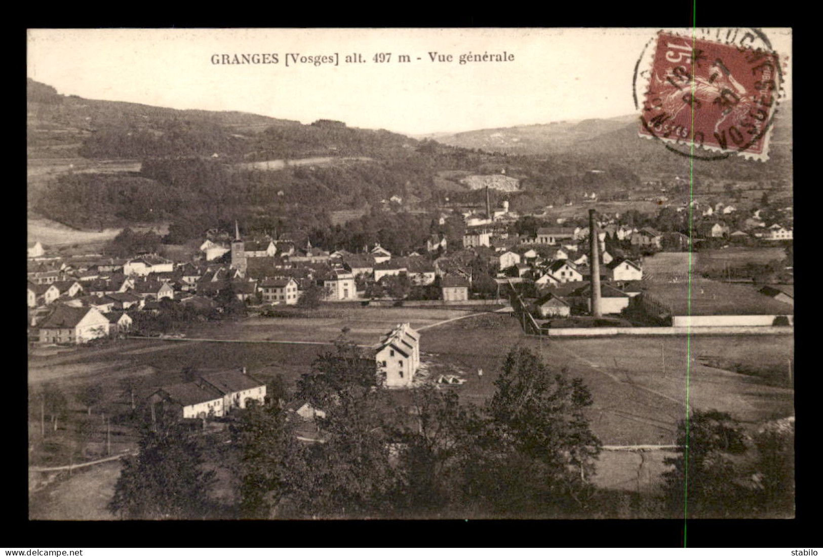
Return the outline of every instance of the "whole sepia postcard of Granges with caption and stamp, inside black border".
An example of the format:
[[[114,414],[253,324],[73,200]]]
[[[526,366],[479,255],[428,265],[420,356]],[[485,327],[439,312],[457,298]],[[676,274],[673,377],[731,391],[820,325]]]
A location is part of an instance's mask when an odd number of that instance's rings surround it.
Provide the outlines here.
[[[29,520],[794,518],[792,49],[27,30]]]

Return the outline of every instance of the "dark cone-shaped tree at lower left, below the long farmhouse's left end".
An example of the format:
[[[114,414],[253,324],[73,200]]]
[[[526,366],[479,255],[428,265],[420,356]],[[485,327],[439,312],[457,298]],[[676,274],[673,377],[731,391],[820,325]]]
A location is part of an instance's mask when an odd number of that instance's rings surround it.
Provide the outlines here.
[[[202,520],[210,516],[213,470],[203,471],[202,448],[170,415],[144,424],[137,456],[124,459],[109,511],[129,520]]]

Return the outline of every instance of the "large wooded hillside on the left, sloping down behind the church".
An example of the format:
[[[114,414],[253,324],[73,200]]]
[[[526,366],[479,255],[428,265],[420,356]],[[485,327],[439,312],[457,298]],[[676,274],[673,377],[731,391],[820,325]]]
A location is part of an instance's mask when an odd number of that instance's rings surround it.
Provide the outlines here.
[[[29,208],[83,229],[171,222],[185,240],[235,218],[247,230],[323,227],[332,211],[394,195],[407,206],[436,199],[439,171],[499,172],[505,161],[328,119],[300,124],[27,87]]]

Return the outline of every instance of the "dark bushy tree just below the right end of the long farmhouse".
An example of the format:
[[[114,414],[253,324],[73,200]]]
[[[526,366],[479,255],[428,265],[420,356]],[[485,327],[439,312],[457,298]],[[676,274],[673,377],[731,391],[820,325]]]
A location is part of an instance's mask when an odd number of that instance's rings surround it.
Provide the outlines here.
[[[302,447],[286,421],[286,410],[251,402],[231,426],[237,453],[241,518],[272,518],[302,475]]]

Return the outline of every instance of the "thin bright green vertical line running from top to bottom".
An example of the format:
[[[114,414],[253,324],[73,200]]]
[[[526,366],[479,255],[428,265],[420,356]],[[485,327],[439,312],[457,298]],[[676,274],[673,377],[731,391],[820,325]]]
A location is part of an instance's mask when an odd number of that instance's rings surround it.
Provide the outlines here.
[[[692,0],[691,3],[691,131],[690,131],[690,157],[689,157],[689,287],[688,297],[686,299],[686,447],[684,447],[684,476],[683,476],[683,547],[686,544],[686,525],[689,522],[689,387],[690,387],[690,372],[691,372],[691,254],[694,249],[694,206],[693,201],[695,197],[695,91],[697,84],[695,82],[695,47],[697,45],[696,36],[696,22],[697,22],[697,0]]]

